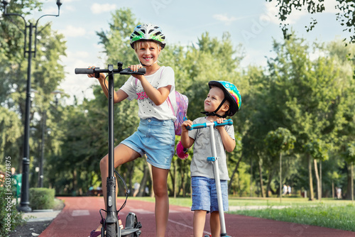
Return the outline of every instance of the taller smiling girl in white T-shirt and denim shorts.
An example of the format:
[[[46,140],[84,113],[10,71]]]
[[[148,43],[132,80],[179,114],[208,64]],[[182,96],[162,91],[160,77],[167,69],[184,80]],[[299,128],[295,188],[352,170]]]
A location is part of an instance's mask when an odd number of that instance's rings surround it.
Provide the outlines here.
[[[114,93],[114,103],[124,99],[138,100],[138,130],[114,148],[114,167],[147,155],[152,165],[153,190],[155,194],[156,236],[165,236],[168,223],[168,170],[174,155],[176,117],[168,106],[170,99],[176,111],[175,75],[171,67],[160,67],[157,63],[160,51],[165,47],[165,35],[158,26],[138,25],[131,34],[131,47],[135,50],[139,65],[131,65],[133,72],[146,67],[146,75],[132,75]],[[88,75],[94,77],[94,74]],[[108,97],[107,80],[100,74],[99,82]],[[104,201],[107,196],[108,155],[100,161]],[[106,206],[106,204],[105,204]],[[121,224],[121,223],[120,223]],[[92,231],[91,237],[99,236],[101,225]]]

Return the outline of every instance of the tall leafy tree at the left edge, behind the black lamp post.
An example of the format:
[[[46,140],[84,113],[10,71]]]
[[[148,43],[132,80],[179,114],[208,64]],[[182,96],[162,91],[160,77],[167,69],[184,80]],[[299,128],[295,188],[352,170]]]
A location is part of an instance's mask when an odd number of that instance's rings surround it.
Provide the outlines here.
[[[31,10],[40,9],[40,6],[42,6],[40,1],[11,1],[8,8],[11,9],[12,13],[28,16],[31,14]],[[2,7],[3,5],[1,4]],[[31,19],[30,21],[33,20]],[[0,72],[4,76],[0,78],[0,84],[3,85],[0,89],[0,103],[1,106],[11,111],[6,116],[13,118],[13,111],[22,122],[24,121],[26,104],[26,70],[28,67],[26,55],[23,52],[24,35],[19,31],[19,29],[23,28],[21,18],[1,15]],[[50,24],[38,26],[37,55],[33,58],[32,73],[34,77],[32,79],[32,88],[40,94],[40,97],[34,99],[33,104],[40,106],[42,109],[48,109],[50,101],[53,100],[53,94],[50,93],[57,89],[62,79],[64,79],[64,70],[60,62],[60,56],[65,55],[66,50],[63,38],[63,35],[51,31]],[[31,111],[30,126],[38,125],[39,121],[33,119],[33,114],[35,113],[36,111],[33,109]],[[13,120],[15,121],[16,118],[13,118]],[[23,136],[23,131],[20,134]],[[16,134],[14,138],[17,136]],[[18,165],[18,172],[21,172],[21,157],[23,153],[21,150],[23,149],[23,138],[21,136],[16,139],[18,149],[13,151],[15,153],[11,153],[14,158],[17,158],[13,159],[13,167]],[[30,144],[33,143],[33,138],[30,138],[29,142]],[[31,161],[34,160],[33,154],[36,153],[33,148],[34,146],[31,145]]]

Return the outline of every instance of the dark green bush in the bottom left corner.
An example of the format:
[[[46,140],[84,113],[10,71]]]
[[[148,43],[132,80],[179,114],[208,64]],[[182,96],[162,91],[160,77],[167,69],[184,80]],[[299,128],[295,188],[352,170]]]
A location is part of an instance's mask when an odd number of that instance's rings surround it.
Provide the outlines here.
[[[23,224],[21,213],[17,211],[12,194],[6,192],[5,185],[0,186],[0,236],[9,236],[16,226]]]

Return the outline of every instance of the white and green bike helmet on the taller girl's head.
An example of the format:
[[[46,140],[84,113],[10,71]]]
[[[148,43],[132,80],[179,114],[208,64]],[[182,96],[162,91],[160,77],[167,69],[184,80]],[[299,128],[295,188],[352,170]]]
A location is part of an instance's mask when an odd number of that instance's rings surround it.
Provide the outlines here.
[[[159,43],[161,49],[165,47],[165,35],[161,32],[159,26],[154,26],[150,23],[138,25],[131,33],[131,47],[134,48],[134,43],[138,40],[151,40]]]

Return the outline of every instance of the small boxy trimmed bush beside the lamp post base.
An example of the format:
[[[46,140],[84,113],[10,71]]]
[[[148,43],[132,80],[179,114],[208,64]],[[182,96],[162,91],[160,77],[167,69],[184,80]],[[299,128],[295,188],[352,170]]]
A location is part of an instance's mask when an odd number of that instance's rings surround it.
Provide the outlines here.
[[[53,209],[54,189],[36,187],[30,189],[30,206],[33,210]]]

